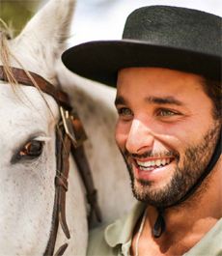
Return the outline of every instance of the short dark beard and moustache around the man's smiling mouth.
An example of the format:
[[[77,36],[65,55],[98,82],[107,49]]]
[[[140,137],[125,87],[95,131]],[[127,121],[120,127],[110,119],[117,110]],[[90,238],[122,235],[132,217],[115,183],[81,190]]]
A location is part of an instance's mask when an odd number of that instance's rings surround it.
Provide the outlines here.
[[[128,156],[147,157],[154,155],[161,156],[161,154],[146,152],[143,155],[134,155],[130,154],[125,149],[125,153],[122,153],[122,155],[125,158],[134,197],[139,201],[158,208],[164,208],[176,203],[188,190],[190,190],[190,188],[196,185],[202,177],[215,150],[220,128],[221,126],[218,124],[215,125],[214,128],[209,129],[201,143],[186,148],[184,156],[181,159],[177,152],[168,152],[164,154],[164,156],[176,156],[178,158],[178,163],[171,182],[161,189],[154,190],[152,188],[153,181],[145,181],[142,179],[137,179],[136,181],[139,185],[135,186],[133,168],[132,165],[127,162]],[[201,189],[198,189],[198,193],[195,192],[195,194],[203,194],[208,187],[206,184],[208,183],[201,185]],[[194,199],[195,195],[192,196],[192,200]]]

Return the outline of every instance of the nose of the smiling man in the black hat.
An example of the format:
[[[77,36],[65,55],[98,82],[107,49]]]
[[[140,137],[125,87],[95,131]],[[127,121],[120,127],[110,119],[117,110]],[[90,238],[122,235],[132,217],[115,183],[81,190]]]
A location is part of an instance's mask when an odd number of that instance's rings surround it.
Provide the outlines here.
[[[133,120],[129,129],[125,148],[132,154],[153,149],[154,132],[139,120]]]

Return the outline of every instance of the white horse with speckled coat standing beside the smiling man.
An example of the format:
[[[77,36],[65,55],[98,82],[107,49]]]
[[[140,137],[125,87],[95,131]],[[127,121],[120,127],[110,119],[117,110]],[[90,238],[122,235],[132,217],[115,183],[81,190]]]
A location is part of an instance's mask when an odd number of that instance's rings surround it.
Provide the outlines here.
[[[60,61],[69,37],[73,0],[51,0],[15,39],[0,36],[1,64],[20,65],[69,93],[88,134],[86,154],[93,170],[103,221],[134,203],[125,163],[115,144],[115,90],[77,77]],[[56,101],[43,94],[57,121]],[[38,141],[39,156],[25,146]],[[42,255],[52,231],[56,175],[55,122],[35,87],[0,82],[0,255]],[[85,255],[88,239],[85,191],[70,157],[66,255]],[[59,228],[56,247],[67,239]]]

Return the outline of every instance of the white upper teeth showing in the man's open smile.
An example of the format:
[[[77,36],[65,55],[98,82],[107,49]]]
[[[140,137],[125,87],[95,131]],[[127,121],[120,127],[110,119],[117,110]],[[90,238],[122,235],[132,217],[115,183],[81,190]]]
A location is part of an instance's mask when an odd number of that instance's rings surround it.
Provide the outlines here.
[[[136,160],[136,163],[139,167],[140,170],[142,171],[152,171],[153,169],[156,168],[161,168],[163,166],[168,165],[174,160],[174,158],[158,158],[158,159],[153,159],[149,161],[139,161]]]

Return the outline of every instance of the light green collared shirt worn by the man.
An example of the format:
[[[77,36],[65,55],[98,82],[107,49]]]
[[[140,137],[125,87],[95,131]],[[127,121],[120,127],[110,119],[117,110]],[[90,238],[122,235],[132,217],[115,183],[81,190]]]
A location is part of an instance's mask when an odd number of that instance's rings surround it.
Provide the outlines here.
[[[105,227],[91,231],[87,255],[129,256],[131,239],[137,220],[147,205],[137,203],[132,211]],[[222,256],[222,218],[183,256]]]

